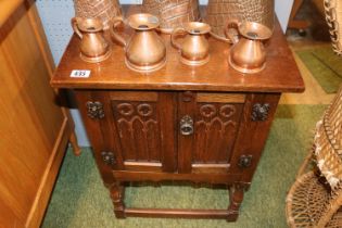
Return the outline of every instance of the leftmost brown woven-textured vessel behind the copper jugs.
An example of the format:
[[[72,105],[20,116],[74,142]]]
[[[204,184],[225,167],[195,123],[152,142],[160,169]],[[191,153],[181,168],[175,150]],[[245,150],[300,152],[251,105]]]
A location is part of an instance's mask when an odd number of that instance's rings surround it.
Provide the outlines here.
[[[103,28],[110,27],[110,21],[122,15],[118,0],[74,0],[75,14],[78,17],[98,17],[103,23]]]

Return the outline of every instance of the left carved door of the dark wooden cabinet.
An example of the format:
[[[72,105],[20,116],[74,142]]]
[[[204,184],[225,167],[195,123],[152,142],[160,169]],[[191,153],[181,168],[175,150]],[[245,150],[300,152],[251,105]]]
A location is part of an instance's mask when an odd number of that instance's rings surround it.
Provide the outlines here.
[[[87,118],[97,118],[102,129],[97,153],[103,163],[119,170],[176,170],[173,123],[177,106],[173,93],[96,91],[90,97]]]

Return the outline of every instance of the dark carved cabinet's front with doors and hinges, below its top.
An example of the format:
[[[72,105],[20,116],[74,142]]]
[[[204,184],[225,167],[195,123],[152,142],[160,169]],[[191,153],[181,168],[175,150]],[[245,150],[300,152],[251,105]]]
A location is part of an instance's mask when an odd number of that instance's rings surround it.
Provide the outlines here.
[[[117,192],[116,181],[168,179],[246,189],[280,98],[279,93],[201,91],[75,93],[112,192]],[[218,215],[202,212],[201,217]],[[221,216],[236,219],[237,212],[230,208]]]

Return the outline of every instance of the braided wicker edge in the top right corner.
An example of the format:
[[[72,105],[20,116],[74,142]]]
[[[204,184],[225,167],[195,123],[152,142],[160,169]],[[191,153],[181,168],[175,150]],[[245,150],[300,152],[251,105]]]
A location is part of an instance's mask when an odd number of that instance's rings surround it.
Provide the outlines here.
[[[342,1],[324,0],[333,51],[342,55]]]

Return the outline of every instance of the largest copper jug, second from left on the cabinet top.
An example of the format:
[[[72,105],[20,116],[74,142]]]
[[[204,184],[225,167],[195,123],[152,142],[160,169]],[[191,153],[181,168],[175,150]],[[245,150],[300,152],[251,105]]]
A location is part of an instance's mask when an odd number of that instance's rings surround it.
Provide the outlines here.
[[[116,31],[122,17],[113,20],[113,39],[125,47],[126,65],[137,72],[152,72],[162,68],[166,63],[166,48],[155,28],[160,26],[156,16],[139,13],[128,17],[127,24],[135,33],[126,40]]]

